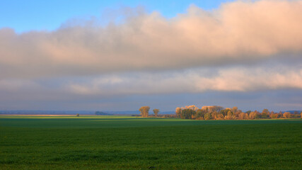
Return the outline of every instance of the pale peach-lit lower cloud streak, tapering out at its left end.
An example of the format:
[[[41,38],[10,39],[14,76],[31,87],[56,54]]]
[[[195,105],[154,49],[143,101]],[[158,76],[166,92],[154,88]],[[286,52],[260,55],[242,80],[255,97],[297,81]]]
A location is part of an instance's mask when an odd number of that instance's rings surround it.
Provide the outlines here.
[[[302,69],[232,67],[210,71],[211,77],[204,74],[209,72],[204,69],[158,74],[110,75],[86,79],[84,83],[71,83],[66,89],[71,93],[87,96],[302,89]]]

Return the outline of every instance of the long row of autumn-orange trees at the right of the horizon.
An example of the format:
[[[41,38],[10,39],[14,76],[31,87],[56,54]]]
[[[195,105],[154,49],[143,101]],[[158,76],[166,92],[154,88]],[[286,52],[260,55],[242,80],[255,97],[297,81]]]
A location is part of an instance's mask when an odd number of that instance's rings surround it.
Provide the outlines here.
[[[302,118],[302,112],[291,114],[289,112],[274,113],[264,109],[262,113],[258,111],[243,112],[237,107],[223,108],[221,106],[185,106],[176,108],[176,116],[182,119],[197,119],[197,120],[243,120],[243,119],[268,119],[268,118]]]

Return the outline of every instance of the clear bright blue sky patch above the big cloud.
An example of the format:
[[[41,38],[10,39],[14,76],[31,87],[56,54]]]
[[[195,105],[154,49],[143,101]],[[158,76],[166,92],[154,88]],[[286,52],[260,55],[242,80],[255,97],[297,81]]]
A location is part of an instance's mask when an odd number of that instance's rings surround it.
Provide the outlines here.
[[[226,1],[97,1],[97,0],[1,0],[0,28],[14,28],[17,33],[30,30],[54,30],[71,18],[101,16],[122,6],[144,6],[147,12],[159,11],[165,17],[185,13],[190,4],[211,10]]]

